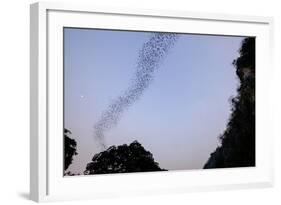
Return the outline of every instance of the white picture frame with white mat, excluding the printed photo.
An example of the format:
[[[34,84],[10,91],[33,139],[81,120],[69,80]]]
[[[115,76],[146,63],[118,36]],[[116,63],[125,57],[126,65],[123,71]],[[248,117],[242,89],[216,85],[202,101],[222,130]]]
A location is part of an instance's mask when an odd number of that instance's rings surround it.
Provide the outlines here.
[[[272,25],[270,17],[98,8],[71,3],[32,4],[30,198],[41,202],[272,186],[273,135],[271,113],[266,110],[271,100],[267,93],[272,76]],[[63,135],[64,26],[256,36],[256,167],[63,177],[62,137],[59,139],[58,135]]]

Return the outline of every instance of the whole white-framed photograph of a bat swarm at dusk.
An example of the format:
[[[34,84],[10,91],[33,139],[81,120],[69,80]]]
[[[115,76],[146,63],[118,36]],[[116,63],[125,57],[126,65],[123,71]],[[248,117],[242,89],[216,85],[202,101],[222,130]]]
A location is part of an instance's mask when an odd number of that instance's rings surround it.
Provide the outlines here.
[[[272,22],[32,4],[30,198],[271,186]]]

